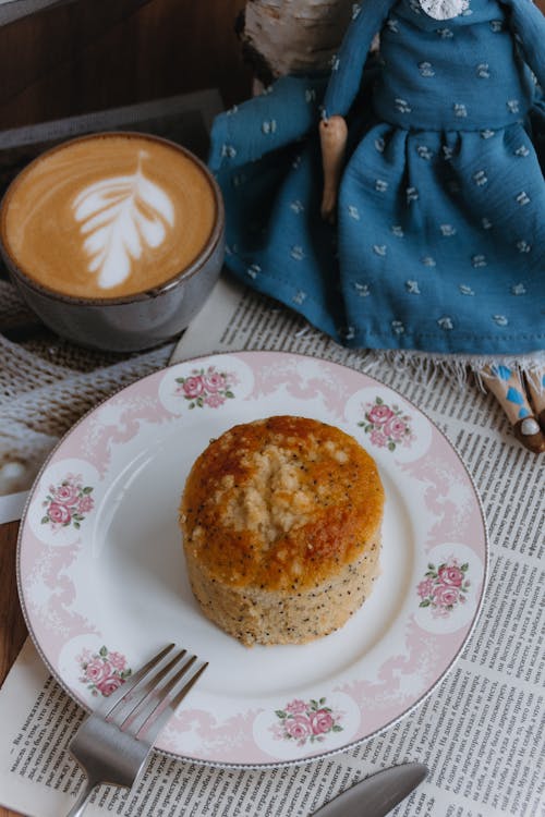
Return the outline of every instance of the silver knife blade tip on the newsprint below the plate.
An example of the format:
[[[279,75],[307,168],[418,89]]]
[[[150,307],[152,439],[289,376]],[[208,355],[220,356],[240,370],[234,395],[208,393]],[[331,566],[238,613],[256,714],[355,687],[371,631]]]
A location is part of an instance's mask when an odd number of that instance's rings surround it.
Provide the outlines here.
[[[424,764],[401,764],[383,769],[338,794],[311,817],[384,817],[427,775]]]

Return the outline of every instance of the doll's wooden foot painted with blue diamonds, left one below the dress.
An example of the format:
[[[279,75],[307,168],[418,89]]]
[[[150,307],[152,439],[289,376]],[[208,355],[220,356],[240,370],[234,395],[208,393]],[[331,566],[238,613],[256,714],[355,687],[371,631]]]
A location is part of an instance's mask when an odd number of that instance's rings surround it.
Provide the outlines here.
[[[530,405],[519,373],[507,366],[492,366],[486,367],[482,376],[486,389],[504,408],[517,439],[534,454],[544,452],[545,435]]]

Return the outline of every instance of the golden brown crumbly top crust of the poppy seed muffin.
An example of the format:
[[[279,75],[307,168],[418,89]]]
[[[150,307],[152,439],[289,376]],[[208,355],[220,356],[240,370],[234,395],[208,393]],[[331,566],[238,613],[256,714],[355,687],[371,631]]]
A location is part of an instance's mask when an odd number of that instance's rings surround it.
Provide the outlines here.
[[[374,460],[314,419],[234,426],[196,460],[181,504],[184,547],[230,587],[304,590],[376,541],[384,490]]]

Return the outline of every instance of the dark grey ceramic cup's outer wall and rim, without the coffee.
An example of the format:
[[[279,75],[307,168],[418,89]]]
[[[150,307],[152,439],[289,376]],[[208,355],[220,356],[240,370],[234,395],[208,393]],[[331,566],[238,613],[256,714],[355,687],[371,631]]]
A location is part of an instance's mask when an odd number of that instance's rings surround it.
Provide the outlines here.
[[[100,137],[143,137],[181,151],[205,175],[214,200],[214,221],[208,239],[192,261],[160,283],[113,297],[72,295],[49,288],[23,269],[7,236],[11,192],[20,176],[43,158],[63,147]],[[72,139],[31,162],[8,188],[0,207],[0,252],[14,284],[28,306],[50,329],[81,345],[113,352],[133,352],[158,345],[185,329],[197,315],[214,284],[225,257],[225,210],[220,190],[206,166],[185,148],[147,134],[93,134]]]

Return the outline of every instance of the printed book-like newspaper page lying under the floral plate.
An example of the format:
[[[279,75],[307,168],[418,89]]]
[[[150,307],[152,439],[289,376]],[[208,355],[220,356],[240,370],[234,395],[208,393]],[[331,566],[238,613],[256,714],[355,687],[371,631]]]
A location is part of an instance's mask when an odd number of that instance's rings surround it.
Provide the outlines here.
[[[440,373],[426,383],[386,359],[342,349],[277,303],[222,279],[174,359],[242,349],[371,367],[448,435],[480,487],[488,523],[489,580],[481,619],[424,703],[356,747],[261,769],[155,754],[129,793],[102,786],[87,814],[307,817],[374,771],[417,760],[429,775],[396,817],[543,817],[543,464],[511,441],[499,410],[494,414],[491,399],[476,387],[461,391]],[[66,744],[82,717],[27,641],[0,693],[0,802],[32,817],[69,809],[83,776]]]

